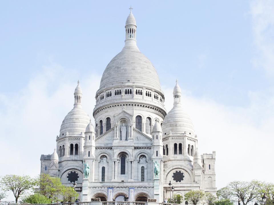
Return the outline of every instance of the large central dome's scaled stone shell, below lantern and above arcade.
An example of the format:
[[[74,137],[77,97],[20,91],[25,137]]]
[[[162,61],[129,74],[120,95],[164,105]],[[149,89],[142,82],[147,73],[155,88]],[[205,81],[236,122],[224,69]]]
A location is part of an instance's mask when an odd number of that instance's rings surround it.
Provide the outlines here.
[[[122,83],[146,85],[161,91],[160,80],[154,66],[137,46],[124,47],[108,63],[101,78],[100,89]]]

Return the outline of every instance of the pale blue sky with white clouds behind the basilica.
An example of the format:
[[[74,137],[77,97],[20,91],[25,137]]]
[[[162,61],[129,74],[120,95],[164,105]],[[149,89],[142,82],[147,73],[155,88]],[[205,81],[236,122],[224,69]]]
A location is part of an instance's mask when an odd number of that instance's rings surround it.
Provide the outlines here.
[[[178,78],[199,152],[216,151],[217,188],[274,182],[271,0],[0,1],[0,176],[40,173],[78,80],[92,116],[102,73],[124,46],[130,6],[166,110]]]

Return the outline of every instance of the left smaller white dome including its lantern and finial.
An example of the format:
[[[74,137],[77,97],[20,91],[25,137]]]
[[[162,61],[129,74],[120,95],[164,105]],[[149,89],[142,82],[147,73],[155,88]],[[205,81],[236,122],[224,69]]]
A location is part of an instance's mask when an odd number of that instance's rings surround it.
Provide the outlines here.
[[[90,121],[90,117],[82,109],[82,89],[78,85],[74,92],[74,107],[65,116],[60,128],[60,137],[65,133],[78,134],[79,132],[85,132],[86,126]]]

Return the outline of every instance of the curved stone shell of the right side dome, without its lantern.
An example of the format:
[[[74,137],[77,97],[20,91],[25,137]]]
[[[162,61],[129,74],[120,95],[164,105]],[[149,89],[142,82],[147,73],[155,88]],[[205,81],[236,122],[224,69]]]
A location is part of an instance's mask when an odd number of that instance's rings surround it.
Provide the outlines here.
[[[163,133],[168,134],[170,131],[172,134],[194,134],[194,126],[190,117],[179,106],[174,106],[164,118],[162,124]]]

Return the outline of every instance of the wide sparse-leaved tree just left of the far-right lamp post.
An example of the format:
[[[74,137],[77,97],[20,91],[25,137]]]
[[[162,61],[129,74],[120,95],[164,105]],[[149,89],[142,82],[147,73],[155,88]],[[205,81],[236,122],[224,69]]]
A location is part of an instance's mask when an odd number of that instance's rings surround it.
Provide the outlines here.
[[[258,191],[259,181],[233,181],[229,183],[228,187],[231,189],[233,196],[239,198],[243,205],[257,198],[259,195]]]

